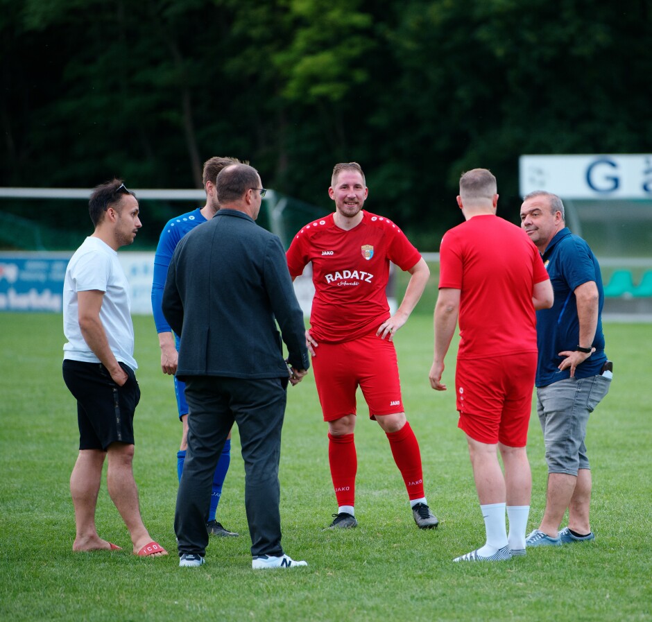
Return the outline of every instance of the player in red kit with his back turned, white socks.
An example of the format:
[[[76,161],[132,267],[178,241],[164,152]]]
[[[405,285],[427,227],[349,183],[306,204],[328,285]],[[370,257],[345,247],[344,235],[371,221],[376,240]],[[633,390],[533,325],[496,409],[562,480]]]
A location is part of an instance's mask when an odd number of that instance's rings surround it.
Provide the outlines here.
[[[454,561],[499,562],[525,555],[532,491],[525,447],[537,368],[535,310],[552,306],[553,291],[537,248],[519,227],[496,216],[497,182],[490,171],[473,169],[461,176],[457,205],[465,222],[446,232],[439,248],[429,378],[432,388],[446,390],[444,358],[459,318],[458,428],[466,433],[487,539]]]

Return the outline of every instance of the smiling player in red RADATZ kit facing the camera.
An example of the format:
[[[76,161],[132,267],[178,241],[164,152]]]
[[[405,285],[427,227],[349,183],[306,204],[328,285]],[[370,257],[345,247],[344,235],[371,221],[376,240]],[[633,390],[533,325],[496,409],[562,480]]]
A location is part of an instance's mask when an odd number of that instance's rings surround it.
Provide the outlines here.
[[[328,193],[335,202],[334,213],[303,227],[287,259],[293,279],[312,262],[315,296],[306,342],[328,423],[328,458],[338,503],[329,528],[358,524],[354,512],[358,386],[370,418],[387,435],[416,524],[434,528],[438,520],[424,494],[421,453],[405,417],[393,344],[395,332],[419,301],[430,270],[394,223],[363,211],[368,188],[357,162],[336,164]],[[393,316],[385,293],[390,261],[411,275]]]

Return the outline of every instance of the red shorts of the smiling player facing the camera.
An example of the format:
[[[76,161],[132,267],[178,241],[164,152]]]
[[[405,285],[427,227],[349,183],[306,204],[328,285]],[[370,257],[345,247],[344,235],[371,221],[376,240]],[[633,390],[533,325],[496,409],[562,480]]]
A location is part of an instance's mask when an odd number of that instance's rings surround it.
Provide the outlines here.
[[[320,343],[312,368],[324,421],[356,414],[358,386],[372,419],[404,411],[394,344],[375,331],[344,343]]]

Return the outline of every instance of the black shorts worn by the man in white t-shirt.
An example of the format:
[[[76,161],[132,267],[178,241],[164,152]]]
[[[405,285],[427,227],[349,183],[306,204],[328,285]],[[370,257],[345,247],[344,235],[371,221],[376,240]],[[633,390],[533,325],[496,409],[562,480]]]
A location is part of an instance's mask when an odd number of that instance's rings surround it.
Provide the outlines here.
[[[140,401],[136,374],[120,363],[128,375],[118,386],[102,363],[63,361],[63,379],[77,400],[79,449],[106,449],[112,442],[134,444],[134,413]]]

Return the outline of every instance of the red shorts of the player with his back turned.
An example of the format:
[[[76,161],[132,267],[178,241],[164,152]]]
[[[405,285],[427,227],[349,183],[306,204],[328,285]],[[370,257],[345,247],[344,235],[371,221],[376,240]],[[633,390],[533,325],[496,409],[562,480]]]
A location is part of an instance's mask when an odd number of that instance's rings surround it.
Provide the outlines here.
[[[458,428],[473,440],[525,447],[536,352],[457,361]]]

